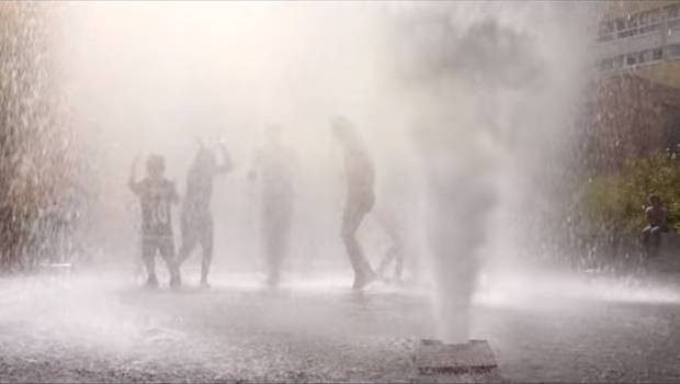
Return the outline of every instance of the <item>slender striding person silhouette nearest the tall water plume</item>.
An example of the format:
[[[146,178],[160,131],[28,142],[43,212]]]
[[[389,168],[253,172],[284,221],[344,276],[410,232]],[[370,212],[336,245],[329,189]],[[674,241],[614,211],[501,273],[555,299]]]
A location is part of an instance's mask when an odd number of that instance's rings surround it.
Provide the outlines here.
[[[375,169],[354,127],[347,118],[336,117],[331,122],[331,129],[342,145],[347,178],[341,236],[354,269],[352,287],[361,290],[377,278],[356,240],[356,230],[375,204]]]

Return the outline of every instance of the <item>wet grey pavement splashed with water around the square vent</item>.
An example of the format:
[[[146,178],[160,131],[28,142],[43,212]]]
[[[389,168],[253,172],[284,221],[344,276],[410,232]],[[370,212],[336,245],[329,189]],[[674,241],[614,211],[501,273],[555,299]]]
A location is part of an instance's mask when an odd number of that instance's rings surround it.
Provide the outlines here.
[[[2,279],[0,381],[680,380],[680,307],[648,287],[540,305],[489,291],[477,301],[473,337],[489,341],[499,370],[433,377],[413,366],[419,340],[433,337],[427,296],[382,284],[353,293],[345,283],[272,291],[248,280],[209,290],[190,281],[172,292],[105,276]]]

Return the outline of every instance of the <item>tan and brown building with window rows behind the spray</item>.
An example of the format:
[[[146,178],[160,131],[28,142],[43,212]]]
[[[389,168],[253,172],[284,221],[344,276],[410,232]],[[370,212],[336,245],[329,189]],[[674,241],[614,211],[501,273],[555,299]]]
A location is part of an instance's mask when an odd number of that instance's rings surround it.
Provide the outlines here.
[[[680,150],[680,0],[607,3],[590,151],[597,171],[656,150]]]

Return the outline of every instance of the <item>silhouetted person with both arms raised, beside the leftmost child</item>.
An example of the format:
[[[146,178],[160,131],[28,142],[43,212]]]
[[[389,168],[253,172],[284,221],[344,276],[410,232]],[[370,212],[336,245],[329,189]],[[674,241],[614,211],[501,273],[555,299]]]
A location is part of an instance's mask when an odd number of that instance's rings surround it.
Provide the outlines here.
[[[199,151],[186,176],[186,196],[184,197],[180,226],[182,245],[178,258],[178,270],[191,252],[201,244],[201,286],[209,287],[207,274],[213,260],[213,215],[211,200],[213,196],[213,179],[219,173],[231,170],[231,158],[223,142],[219,143],[223,163],[218,165],[215,154],[199,140]]]

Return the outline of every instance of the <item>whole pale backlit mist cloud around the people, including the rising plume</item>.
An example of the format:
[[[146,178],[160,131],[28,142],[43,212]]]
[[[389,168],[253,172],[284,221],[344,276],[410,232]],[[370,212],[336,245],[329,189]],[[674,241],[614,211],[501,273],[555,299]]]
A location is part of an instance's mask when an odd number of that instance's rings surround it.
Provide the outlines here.
[[[287,273],[349,276],[338,235],[342,161],[329,131],[338,114],[376,163],[377,210],[399,217],[409,269],[434,282],[446,341],[469,337],[480,267],[513,264],[518,249],[542,241],[535,218],[560,212],[592,76],[588,4],[57,8],[61,90],[95,154],[88,236],[109,261],[138,257],[125,188],[133,158],[163,155],[181,194],[200,137],[224,139],[235,165],[215,184],[215,270],[260,270],[259,200],[247,173],[265,126],[279,124],[302,168]],[[361,240],[377,264],[385,238],[371,218]]]

